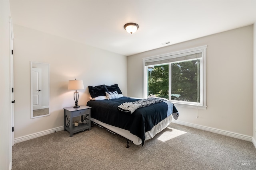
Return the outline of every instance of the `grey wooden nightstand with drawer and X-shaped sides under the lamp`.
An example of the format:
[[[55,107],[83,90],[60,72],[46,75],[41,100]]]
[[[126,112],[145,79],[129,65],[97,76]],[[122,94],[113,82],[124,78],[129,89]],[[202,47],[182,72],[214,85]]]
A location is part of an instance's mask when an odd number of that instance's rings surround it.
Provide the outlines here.
[[[64,107],[64,131],[70,133],[70,137],[74,133],[84,131],[86,129],[91,129],[91,107],[80,105],[78,108]],[[78,126],[73,125],[73,118],[81,116],[82,123],[79,123]]]

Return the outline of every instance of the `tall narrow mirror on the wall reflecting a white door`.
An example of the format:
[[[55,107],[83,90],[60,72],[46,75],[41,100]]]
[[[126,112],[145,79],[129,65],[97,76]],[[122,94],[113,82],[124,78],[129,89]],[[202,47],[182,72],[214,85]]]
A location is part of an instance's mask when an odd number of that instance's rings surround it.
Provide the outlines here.
[[[50,65],[30,62],[31,118],[50,115]]]

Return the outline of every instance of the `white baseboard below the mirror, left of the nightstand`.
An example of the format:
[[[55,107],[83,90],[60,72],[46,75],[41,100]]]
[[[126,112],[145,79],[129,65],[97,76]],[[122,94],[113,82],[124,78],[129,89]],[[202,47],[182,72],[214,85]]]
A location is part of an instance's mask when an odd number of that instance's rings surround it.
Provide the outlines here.
[[[44,135],[48,135],[48,134],[55,133],[55,132],[58,132],[58,131],[63,131],[63,130],[64,130],[64,126],[60,126],[60,127],[56,127],[56,128],[53,128],[53,129],[48,129],[46,131],[41,131],[41,132],[38,132],[38,133],[33,133],[33,134],[30,134],[30,135],[26,135],[26,136],[23,136],[23,137],[18,137],[18,138],[14,139],[14,144],[20,143],[20,142],[23,142],[23,141],[28,141],[30,139],[34,139],[34,138],[37,138],[37,137],[41,137],[41,136],[44,136]]]

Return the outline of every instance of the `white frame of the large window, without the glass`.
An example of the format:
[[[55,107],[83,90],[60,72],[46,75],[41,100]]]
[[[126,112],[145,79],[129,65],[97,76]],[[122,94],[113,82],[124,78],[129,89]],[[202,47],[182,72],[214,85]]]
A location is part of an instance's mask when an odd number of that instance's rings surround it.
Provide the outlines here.
[[[176,51],[173,53],[168,53],[164,55],[159,56],[153,56],[153,57],[147,57],[142,59],[142,65],[143,65],[143,98],[147,98],[148,94],[148,83],[147,83],[147,77],[148,77],[148,70],[147,70],[147,62],[154,62],[154,61],[160,61],[160,60],[166,60],[166,59],[176,59],[178,57],[186,56],[187,54],[194,54],[194,53],[202,53],[202,59],[200,59],[200,103],[195,102],[185,102],[185,101],[177,101],[177,100],[170,100],[175,106],[182,106],[182,107],[189,107],[189,108],[196,108],[196,109],[206,109],[206,49],[207,45],[196,47],[192,49],[182,50],[182,51]],[[183,60],[182,60],[183,61]],[[169,72],[171,71],[169,63]],[[170,74],[169,74],[170,76]],[[169,92],[171,92],[171,79],[169,77]],[[171,94],[169,93],[169,99]],[[202,99],[202,100],[201,100]]]

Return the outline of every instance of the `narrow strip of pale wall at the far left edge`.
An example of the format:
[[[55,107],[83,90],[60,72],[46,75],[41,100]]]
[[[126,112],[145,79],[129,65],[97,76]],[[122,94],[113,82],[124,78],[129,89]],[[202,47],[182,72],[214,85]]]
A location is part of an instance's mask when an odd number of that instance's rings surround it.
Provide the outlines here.
[[[0,0],[0,169],[12,166],[12,127],[10,98],[10,6],[9,0]]]

